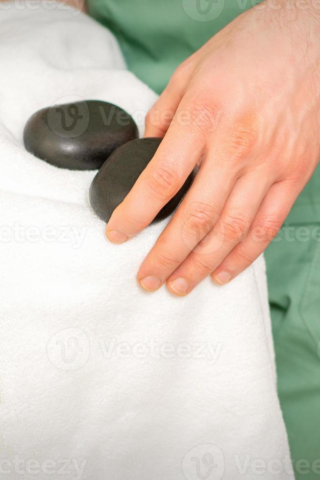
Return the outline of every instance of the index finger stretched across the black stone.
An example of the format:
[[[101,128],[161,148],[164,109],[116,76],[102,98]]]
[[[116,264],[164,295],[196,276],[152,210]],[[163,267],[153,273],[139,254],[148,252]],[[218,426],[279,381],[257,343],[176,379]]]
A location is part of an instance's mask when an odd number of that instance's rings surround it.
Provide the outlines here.
[[[204,138],[202,126],[190,122],[181,128],[172,123],[153,159],[113,212],[107,225],[111,241],[127,240],[154,219],[194,169],[204,151]]]

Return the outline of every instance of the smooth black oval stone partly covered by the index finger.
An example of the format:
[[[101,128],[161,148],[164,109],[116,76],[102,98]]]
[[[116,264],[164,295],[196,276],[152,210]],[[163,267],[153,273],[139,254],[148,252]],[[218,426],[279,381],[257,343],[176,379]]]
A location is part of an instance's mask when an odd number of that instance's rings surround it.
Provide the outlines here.
[[[154,156],[160,138],[144,138],[128,142],[115,150],[92,181],[89,199],[99,218],[109,221],[112,212],[130,192],[136,180]],[[191,173],[174,197],[165,205],[153,222],[162,220],[179,204],[193,180]]]

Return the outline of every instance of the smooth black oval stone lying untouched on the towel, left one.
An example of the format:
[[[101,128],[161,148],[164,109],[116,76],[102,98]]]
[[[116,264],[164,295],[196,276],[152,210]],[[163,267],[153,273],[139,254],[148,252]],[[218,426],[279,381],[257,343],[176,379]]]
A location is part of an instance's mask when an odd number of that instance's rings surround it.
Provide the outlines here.
[[[138,137],[122,108],[84,100],[43,108],[26,122],[25,148],[38,158],[70,170],[95,170],[120,145]]]

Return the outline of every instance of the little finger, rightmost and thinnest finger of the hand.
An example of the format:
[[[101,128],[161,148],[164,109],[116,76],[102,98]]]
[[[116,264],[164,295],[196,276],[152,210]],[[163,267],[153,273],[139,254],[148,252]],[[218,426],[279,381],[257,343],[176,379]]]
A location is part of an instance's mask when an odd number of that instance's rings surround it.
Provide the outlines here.
[[[261,255],[279,232],[290,212],[299,189],[292,182],[272,185],[243,242],[239,243],[212,273],[220,285],[228,283]]]

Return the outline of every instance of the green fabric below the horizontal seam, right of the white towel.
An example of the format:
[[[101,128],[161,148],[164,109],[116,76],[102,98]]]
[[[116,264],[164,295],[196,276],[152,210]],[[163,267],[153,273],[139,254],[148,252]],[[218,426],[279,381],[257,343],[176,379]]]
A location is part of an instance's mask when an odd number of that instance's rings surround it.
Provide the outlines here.
[[[297,480],[320,478],[319,219],[286,222],[265,253],[278,393]]]

